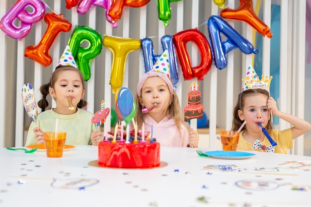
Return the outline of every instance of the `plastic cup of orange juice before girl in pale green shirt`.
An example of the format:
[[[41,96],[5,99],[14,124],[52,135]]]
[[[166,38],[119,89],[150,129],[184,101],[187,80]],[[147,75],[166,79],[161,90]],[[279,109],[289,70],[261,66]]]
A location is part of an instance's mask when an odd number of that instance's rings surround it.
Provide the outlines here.
[[[45,149],[48,157],[62,157],[66,141],[66,132],[45,132]]]

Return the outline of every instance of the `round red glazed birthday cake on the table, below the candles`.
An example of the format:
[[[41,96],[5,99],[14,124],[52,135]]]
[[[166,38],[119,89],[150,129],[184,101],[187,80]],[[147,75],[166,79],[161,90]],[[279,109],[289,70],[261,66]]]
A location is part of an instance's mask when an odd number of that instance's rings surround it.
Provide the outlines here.
[[[103,140],[98,144],[98,165],[115,168],[158,167],[160,144],[148,138],[130,142]]]

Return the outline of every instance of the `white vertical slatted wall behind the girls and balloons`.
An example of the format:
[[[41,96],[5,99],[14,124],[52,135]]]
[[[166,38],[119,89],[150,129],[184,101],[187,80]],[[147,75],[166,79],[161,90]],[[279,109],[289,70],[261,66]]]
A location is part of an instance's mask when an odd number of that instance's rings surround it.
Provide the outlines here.
[[[0,17],[2,17],[15,0],[0,0]],[[72,23],[72,31],[75,25],[89,26],[99,33],[107,36],[143,39],[150,37],[153,40],[155,52],[161,54],[160,39],[164,35],[173,35],[185,29],[199,27],[199,30],[208,38],[208,30],[205,21],[211,15],[220,13],[219,7],[212,0],[182,0],[171,2],[171,19],[169,26],[163,26],[158,19],[156,0],[151,0],[146,6],[130,8],[125,6],[119,26],[112,28],[106,21],[105,10],[93,6],[87,14],[77,12],[77,6],[71,10],[65,8],[65,0],[44,0],[49,6],[47,13],[55,11],[63,13],[65,18]],[[260,3],[253,0],[253,5]],[[263,2],[263,21],[271,27],[271,0]],[[281,0],[281,53],[280,53],[280,99],[279,108],[282,111],[304,118],[304,85],[305,78],[305,22],[306,0],[292,1]],[[238,2],[227,0],[226,5],[237,8]],[[234,28],[241,26],[241,34],[250,42],[253,39],[253,29],[244,22],[231,21],[228,23]],[[61,33],[51,47],[50,54],[53,64],[47,68],[24,57],[24,50],[29,45],[37,45],[44,34],[46,25],[44,20],[33,25],[31,33],[22,40],[15,40],[0,31],[0,146],[22,146],[23,127],[29,126],[30,121],[21,102],[21,87],[25,82],[34,86],[36,100],[41,99],[39,87],[46,83],[55,69],[65,45],[72,33]],[[270,73],[270,41],[263,38],[263,74]],[[254,45],[254,44],[253,44]],[[4,48],[4,50],[3,50]],[[199,63],[198,51],[194,45],[188,47],[191,54],[192,66]],[[235,51],[235,50],[233,50]],[[209,118],[210,147],[215,146],[216,129],[231,128],[232,110],[236,102],[237,94],[241,89],[241,78],[245,76],[246,66],[252,63],[253,56],[240,52],[227,54],[228,67],[219,70],[212,64],[212,68],[200,81],[202,103],[205,113]],[[15,64],[16,63],[16,64]],[[87,110],[96,112],[100,109],[100,101],[105,100],[105,107],[114,108],[114,94],[111,93],[110,70],[112,65],[112,53],[103,46],[101,54],[91,62],[91,78],[86,82],[85,99],[88,102]],[[129,54],[123,80],[123,87],[129,87],[133,94],[139,77],[144,73],[141,52],[134,51]],[[189,83],[194,80],[184,80],[179,68],[179,81],[176,93],[182,104],[186,105],[186,93]],[[298,89],[299,82],[300,87]],[[290,91],[290,92],[288,92]],[[51,100],[50,100],[51,101]],[[298,107],[299,103],[299,107]],[[52,103],[54,106],[55,103]],[[50,105],[51,106],[51,105]],[[13,108],[13,109],[12,109]],[[15,110],[14,110],[15,108]],[[110,124],[110,117],[106,120]],[[194,126],[196,120],[193,121]],[[290,125],[280,121],[276,126],[279,129],[289,128]],[[291,153],[303,154],[303,138],[294,142]]]

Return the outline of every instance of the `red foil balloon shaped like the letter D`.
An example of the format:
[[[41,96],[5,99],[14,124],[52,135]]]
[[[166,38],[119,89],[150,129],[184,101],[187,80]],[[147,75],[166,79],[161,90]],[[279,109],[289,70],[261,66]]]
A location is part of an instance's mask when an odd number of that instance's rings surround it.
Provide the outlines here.
[[[203,80],[212,65],[211,48],[204,34],[197,28],[188,29],[174,34],[173,40],[184,79],[190,80],[196,77],[198,80]],[[192,67],[187,50],[187,43],[190,41],[196,44],[200,52],[200,63],[196,67]]]

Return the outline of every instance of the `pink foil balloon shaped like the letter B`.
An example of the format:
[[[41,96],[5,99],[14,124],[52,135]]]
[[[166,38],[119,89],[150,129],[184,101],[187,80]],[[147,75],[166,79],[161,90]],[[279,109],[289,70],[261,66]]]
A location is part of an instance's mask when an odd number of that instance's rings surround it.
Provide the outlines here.
[[[25,8],[31,7],[29,12]],[[17,0],[0,20],[0,29],[4,34],[21,40],[26,37],[32,25],[41,20],[45,14],[46,4],[41,0]],[[15,25],[16,20],[20,25]]]

